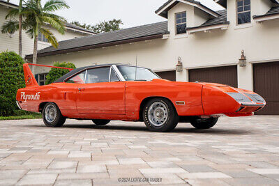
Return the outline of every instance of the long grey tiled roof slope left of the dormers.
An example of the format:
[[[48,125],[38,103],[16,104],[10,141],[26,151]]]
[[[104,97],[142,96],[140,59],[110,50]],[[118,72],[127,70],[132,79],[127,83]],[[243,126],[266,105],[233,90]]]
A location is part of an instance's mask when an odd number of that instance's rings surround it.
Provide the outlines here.
[[[81,38],[75,38],[71,40],[63,40],[59,42],[59,47],[55,49],[54,47],[47,47],[45,49],[41,49],[38,52],[38,56],[43,53],[50,52],[59,52],[66,53],[68,49],[78,49],[82,47],[90,47],[96,48],[96,45],[108,44],[112,42],[123,42],[125,40],[131,40],[135,38],[145,38],[147,36],[160,36],[168,33],[167,31],[167,22],[158,22],[154,24],[146,24],[143,26],[136,26],[129,29],[121,29],[119,31],[110,31],[107,33],[99,33],[91,36],[84,36]],[[118,44],[120,45],[120,44]],[[80,49],[82,50],[82,49]],[[73,51],[72,51],[73,52]],[[29,59],[31,55],[27,56]]]

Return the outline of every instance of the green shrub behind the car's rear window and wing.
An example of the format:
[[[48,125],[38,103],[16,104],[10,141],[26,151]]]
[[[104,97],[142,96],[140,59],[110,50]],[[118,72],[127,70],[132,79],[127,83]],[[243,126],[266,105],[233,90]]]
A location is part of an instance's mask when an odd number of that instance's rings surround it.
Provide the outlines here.
[[[64,68],[75,68],[75,65],[73,63],[54,63],[54,66],[58,67],[64,67]],[[47,80],[45,81],[45,84],[51,84],[59,77],[62,77],[63,75],[66,75],[69,72],[67,69],[61,69],[61,68],[52,68],[50,70],[50,73],[47,75]]]

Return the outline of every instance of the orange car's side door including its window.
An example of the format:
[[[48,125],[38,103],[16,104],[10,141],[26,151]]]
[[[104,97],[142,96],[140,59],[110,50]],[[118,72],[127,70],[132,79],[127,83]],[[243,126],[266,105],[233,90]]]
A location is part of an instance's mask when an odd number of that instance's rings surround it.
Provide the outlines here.
[[[86,70],[77,86],[77,111],[81,114],[126,114],[125,83],[112,67]]]

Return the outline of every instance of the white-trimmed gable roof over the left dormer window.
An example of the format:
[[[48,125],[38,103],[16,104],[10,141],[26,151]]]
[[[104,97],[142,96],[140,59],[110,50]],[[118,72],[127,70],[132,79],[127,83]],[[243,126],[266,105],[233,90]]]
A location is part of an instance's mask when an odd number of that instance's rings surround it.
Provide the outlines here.
[[[180,2],[186,3],[190,6],[194,6],[195,8],[199,8],[200,10],[204,11],[205,13],[208,13],[209,15],[212,15],[213,17],[220,16],[214,10],[211,10],[207,6],[202,5],[202,3],[200,3],[199,1],[194,0],[169,0],[166,3],[164,3],[163,6],[160,6],[160,8],[158,8],[158,10],[155,11],[155,13],[157,15],[167,18],[167,12]]]

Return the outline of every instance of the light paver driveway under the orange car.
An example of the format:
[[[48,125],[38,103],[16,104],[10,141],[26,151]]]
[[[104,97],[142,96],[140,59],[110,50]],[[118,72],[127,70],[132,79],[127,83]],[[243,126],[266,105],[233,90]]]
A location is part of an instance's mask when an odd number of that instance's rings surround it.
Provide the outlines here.
[[[15,184],[279,185],[279,116],[169,133],[121,121],[0,121],[0,185]]]

